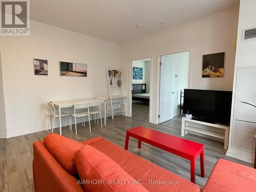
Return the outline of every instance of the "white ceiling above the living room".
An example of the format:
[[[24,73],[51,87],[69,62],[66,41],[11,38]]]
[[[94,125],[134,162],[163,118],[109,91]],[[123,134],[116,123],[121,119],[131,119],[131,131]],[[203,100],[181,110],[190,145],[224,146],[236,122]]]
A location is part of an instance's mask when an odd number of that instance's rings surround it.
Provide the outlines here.
[[[238,6],[239,0],[31,0],[30,15],[37,22],[123,44]]]

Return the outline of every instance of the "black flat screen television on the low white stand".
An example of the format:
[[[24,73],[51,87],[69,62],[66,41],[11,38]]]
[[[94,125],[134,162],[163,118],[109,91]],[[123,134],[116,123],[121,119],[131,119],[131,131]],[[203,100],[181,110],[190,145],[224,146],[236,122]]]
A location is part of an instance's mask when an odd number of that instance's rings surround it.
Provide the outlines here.
[[[230,124],[231,91],[184,89],[183,113],[209,123]]]

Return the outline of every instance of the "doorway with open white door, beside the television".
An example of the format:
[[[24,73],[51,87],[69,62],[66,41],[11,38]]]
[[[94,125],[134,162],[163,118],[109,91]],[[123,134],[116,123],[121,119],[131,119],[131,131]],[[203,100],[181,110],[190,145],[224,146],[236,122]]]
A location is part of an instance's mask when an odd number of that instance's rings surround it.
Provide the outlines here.
[[[181,92],[188,88],[189,51],[160,56],[159,123],[180,114]]]

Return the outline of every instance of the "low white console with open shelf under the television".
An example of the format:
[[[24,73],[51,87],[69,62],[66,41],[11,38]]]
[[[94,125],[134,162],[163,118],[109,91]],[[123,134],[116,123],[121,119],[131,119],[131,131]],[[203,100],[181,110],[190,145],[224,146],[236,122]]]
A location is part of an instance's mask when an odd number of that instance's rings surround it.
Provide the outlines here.
[[[193,123],[193,126],[189,125],[189,122]],[[196,124],[201,124],[201,125],[206,125],[206,126],[210,126],[210,127],[215,127],[218,129],[223,129],[223,130],[225,130],[225,133],[222,134],[222,133],[218,133],[218,132],[214,132],[214,131],[210,131],[210,130],[201,129],[200,127],[196,127]],[[181,136],[184,137],[185,134],[188,134],[188,131],[193,131],[193,132],[201,133],[204,135],[209,135],[212,137],[224,139],[224,149],[227,150],[229,126],[221,125],[221,124],[212,124],[212,123],[207,123],[207,122],[203,122],[203,121],[197,121],[197,120],[193,120],[193,119],[188,119],[186,117],[182,117]]]

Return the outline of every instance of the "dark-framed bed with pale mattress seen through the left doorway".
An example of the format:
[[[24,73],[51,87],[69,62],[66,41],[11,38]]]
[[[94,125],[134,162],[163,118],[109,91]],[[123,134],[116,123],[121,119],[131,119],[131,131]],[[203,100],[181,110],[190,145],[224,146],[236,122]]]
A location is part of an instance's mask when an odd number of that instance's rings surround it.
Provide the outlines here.
[[[150,102],[150,93],[146,93],[146,83],[132,84],[133,101]]]

